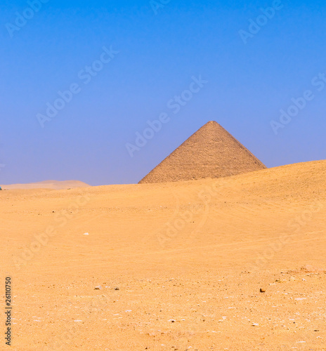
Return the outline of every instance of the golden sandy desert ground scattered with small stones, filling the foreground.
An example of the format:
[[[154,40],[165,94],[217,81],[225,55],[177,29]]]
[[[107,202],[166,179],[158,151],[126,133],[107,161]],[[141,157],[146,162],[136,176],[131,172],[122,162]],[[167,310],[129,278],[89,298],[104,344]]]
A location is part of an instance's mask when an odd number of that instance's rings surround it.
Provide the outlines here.
[[[11,350],[326,350],[325,187],[315,161],[0,192]]]

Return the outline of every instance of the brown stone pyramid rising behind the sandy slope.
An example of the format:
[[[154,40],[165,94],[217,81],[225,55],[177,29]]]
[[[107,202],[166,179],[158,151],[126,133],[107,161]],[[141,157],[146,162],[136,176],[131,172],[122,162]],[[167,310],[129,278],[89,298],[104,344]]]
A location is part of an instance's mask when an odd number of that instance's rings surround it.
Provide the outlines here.
[[[141,183],[221,178],[266,168],[216,121],[209,121],[156,166]]]

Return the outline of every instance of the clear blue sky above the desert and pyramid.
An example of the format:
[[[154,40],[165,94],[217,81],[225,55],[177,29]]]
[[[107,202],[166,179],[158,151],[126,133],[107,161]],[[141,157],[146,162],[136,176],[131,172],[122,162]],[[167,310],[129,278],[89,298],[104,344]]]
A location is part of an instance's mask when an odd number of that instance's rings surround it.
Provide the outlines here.
[[[137,183],[210,120],[268,167],[326,159],[325,18],[321,0],[1,0],[0,183]]]

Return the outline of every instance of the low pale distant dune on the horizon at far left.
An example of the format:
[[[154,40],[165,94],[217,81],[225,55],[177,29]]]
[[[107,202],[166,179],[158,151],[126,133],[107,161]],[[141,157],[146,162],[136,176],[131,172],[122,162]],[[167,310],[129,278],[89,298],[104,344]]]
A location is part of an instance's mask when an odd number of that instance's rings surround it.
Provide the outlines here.
[[[53,190],[61,190],[61,189],[73,189],[75,187],[90,187],[84,182],[79,180],[44,180],[43,182],[38,183],[27,183],[27,184],[11,184],[11,185],[0,185],[3,190],[13,190],[13,189],[53,189]]]

